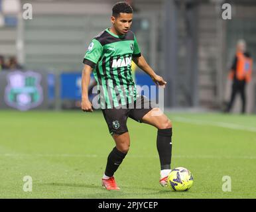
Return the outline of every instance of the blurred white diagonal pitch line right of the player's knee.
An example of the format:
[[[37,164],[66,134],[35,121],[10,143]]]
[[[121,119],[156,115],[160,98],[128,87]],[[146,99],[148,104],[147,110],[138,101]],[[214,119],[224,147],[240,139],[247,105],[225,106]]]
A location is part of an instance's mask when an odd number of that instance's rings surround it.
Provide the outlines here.
[[[223,127],[223,128],[233,129],[233,130],[237,130],[237,131],[256,132],[255,127],[245,127],[243,125],[235,125],[235,124],[231,124],[231,123],[203,121],[203,120],[198,120],[198,119],[187,119],[184,117],[174,117],[173,120],[182,122],[182,123],[195,124],[195,125],[211,125],[214,127]]]

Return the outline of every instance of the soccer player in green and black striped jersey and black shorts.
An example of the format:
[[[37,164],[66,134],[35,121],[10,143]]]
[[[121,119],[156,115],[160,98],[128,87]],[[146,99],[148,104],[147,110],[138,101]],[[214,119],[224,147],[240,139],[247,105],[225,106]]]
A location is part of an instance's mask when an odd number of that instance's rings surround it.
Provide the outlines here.
[[[131,30],[133,9],[125,2],[116,3],[112,9],[111,27],[106,28],[92,39],[84,56],[82,71],[83,111],[92,112],[92,103],[88,99],[88,85],[93,71],[97,81],[99,105],[107,123],[109,133],[115,141],[115,147],[109,153],[102,185],[108,190],[117,190],[114,173],[125,158],[130,138],[127,119],[130,117],[139,123],[146,123],[158,129],[157,150],[160,158],[160,185],[166,185],[170,173],[172,154],[172,124],[168,117],[153,107],[153,103],[144,95],[138,95],[131,74],[131,62],[149,74],[157,85],[166,81],[158,76],[147,64],[141,54],[135,34]],[[145,107],[149,105],[149,107]]]

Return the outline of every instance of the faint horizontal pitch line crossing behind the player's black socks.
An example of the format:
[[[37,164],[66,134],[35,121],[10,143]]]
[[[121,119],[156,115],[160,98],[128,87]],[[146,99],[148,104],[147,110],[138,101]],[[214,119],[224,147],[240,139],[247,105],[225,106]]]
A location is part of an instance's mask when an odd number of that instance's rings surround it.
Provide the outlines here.
[[[0,157],[70,157],[70,158],[107,158],[97,154],[0,154]],[[249,159],[255,160],[256,156],[216,156],[216,155],[174,155],[173,158],[191,158],[191,159]],[[159,156],[129,155],[129,158],[159,158]]]

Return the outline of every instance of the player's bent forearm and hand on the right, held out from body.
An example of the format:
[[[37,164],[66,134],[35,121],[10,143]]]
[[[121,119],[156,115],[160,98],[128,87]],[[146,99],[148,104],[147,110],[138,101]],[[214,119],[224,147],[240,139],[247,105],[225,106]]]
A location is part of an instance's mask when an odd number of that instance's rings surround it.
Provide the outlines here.
[[[156,83],[156,85],[165,85],[166,84],[166,81],[164,81],[164,79],[162,79],[161,76],[157,75],[154,72],[154,70],[149,66],[149,64],[147,64],[147,61],[145,60],[145,58],[142,55],[139,57],[133,58],[133,62],[135,62],[135,64],[139,68],[141,68],[141,70],[143,70],[144,72],[149,74],[149,76]]]

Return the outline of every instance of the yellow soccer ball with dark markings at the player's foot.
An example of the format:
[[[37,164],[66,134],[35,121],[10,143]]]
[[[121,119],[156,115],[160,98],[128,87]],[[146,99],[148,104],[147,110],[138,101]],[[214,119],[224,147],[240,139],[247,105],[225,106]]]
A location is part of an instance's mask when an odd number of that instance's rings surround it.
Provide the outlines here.
[[[189,170],[183,167],[174,168],[168,175],[167,186],[172,191],[188,191],[193,185],[193,176]]]

